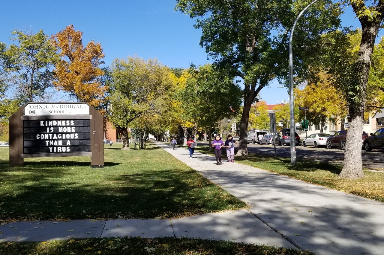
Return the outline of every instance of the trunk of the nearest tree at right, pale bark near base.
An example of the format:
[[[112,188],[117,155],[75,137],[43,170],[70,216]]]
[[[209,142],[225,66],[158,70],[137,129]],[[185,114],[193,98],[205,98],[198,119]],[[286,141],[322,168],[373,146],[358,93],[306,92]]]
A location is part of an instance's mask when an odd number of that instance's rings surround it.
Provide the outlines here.
[[[381,4],[383,9],[382,3],[379,4]],[[353,6],[353,8],[356,11],[356,7]],[[356,67],[358,74],[360,74],[360,87],[357,91],[360,101],[348,101],[348,132],[344,153],[344,166],[339,175],[340,177],[350,179],[364,177],[361,162],[361,136],[364,127],[367,82],[369,68],[371,67],[371,55],[382,17],[379,15],[377,21],[368,21],[366,18],[359,18],[359,20],[362,26],[362,37]]]

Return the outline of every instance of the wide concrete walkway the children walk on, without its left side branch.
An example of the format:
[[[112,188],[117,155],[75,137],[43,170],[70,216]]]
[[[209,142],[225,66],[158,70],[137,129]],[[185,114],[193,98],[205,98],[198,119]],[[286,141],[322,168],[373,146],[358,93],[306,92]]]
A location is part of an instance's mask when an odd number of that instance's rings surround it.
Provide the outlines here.
[[[384,203],[305,183],[240,163],[157,144],[250,204],[250,212],[286,240],[329,254],[384,254]],[[236,159],[235,159],[236,160]]]

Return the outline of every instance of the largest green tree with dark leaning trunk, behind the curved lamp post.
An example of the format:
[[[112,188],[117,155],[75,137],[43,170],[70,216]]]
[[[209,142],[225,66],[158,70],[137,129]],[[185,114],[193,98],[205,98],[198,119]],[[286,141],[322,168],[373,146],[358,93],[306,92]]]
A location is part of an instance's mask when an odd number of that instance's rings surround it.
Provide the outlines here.
[[[237,155],[248,155],[247,129],[252,103],[273,78],[288,77],[288,32],[308,0],[177,0],[176,9],[196,20],[202,29],[200,46],[215,65],[242,78],[243,113]],[[295,33],[296,73],[308,70],[303,61],[316,53],[324,31],[339,25],[338,4],[324,0],[308,10]]]

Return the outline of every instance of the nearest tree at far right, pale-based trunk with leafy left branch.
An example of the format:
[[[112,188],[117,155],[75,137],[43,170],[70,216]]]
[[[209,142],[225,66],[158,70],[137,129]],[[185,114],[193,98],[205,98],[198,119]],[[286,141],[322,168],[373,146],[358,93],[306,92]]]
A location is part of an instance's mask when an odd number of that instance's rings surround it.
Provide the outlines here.
[[[355,179],[364,177],[360,137],[366,111],[371,56],[384,17],[384,1],[349,0],[348,3],[362,28],[358,52],[354,54],[350,48],[353,41],[351,43],[351,38],[345,31],[340,31],[332,38],[336,42],[332,54],[327,55],[330,56],[332,65],[328,72],[338,89],[344,92],[348,108],[348,132],[340,177]]]

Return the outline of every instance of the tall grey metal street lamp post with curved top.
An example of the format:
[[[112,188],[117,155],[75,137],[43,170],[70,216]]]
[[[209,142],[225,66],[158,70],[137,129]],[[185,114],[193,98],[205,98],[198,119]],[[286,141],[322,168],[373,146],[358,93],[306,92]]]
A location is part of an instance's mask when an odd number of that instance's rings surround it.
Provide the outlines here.
[[[290,106],[290,135],[291,135],[291,165],[296,165],[296,144],[295,144],[295,105],[293,103],[293,53],[292,53],[292,39],[293,39],[293,31],[295,30],[295,26],[301,15],[311,6],[313,5],[317,0],[314,0],[312,3],[310,3],[307,7],[304,8],[297,16],[295,22],[293,23],[291,34],[289,38],[289,44],[288,44],[288,50],[289,50],[289,86],[290,86],[290,100],[289,100],[289,106]]]

